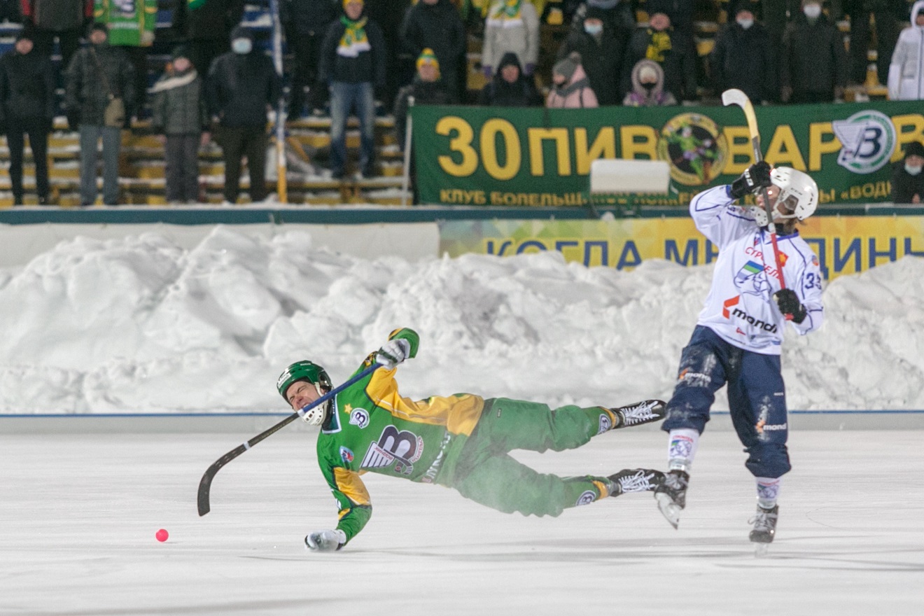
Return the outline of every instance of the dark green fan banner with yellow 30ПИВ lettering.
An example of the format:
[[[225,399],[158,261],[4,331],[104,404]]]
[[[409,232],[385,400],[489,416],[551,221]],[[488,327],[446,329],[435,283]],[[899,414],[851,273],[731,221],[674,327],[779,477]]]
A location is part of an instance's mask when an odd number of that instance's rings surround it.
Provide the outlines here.
[[[764,158],[818,182],[821,203],[890,199],[892,165],[924,141],[919,101],[759,106]],[[444,205],[580,206],[598,158],[668,161],[672,190],[645,205],[687,205],[753,162],[739,107],[411,110],[419,199]]]

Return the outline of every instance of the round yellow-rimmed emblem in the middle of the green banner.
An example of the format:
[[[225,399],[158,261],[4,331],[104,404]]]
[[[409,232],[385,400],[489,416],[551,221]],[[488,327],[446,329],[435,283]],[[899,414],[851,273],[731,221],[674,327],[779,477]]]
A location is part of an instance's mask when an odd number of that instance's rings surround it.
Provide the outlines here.
[[[705,186],[725,167],[728,143],[723,131],[700,114],[675,115],[661,129],[658,158],[671,164],[671,178],[686,186]]]

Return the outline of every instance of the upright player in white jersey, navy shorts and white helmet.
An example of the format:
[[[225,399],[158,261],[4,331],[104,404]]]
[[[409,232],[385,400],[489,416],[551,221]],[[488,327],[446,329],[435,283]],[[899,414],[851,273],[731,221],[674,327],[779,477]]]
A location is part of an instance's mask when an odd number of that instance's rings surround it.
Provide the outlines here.
[[[741,199],[767,188],[783,262],[777,271],[763,198]],[[757,481],[757,515],[750,540],[770,543],[776,530],[781,477],[789,471],[787,420],[780,345],[789,322],[800,334],[821,326],[821,268],[796,231],[818,205],[818,186],[808,175],[767,163],[748,167],[734,183],[699,193],[690,214],[699,231],[719,248],[712,286],[693,336],[680,357],[674,396],[663,430],[670,433],[668,468],[655,498],[675,527],[686,505],[687,483],[699,435],[709,421],[715,392],[728,385],[728,404],[745,465]],[[784,286],[784,288],[782,288]]]

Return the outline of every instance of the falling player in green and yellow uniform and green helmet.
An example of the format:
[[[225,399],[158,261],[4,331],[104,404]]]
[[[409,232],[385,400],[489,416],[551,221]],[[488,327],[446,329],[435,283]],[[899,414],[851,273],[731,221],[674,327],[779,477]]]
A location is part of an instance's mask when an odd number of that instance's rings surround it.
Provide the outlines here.
[[[663,401],[556,409],[473,393],[412,401],[398,393],[395,368],[417,355],[418,344],[417,332],[395,330],[357,372],[375,363],[382,368],[304,413],[306,422],[321,426],[318,464],[340,518],[334,530],[305,537],[311,550],[339,550],[369,521],[370,496],[359,478],[367,471],[440,484],[505,513],[553,516],[607,496],[650,491],[663,481],[663,473],[644,468],[610,477],[545,475],[508,453],[574,449],[610,429],[663,418]],[[332,384],[322,367],[298,361],[280,375],[276,388],[298,411]]]

